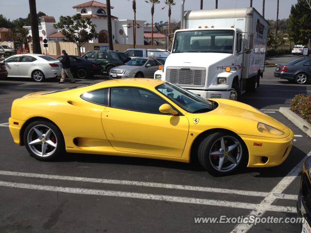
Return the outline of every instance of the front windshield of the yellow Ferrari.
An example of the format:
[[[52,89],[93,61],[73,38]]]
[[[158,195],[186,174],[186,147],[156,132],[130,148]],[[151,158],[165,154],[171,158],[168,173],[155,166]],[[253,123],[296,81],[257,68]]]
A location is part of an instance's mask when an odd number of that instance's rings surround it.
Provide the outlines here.
[[[155,89],[189,113],[206,113],[216,108],[216,102],[203,99],[172,83],[160,84]]]

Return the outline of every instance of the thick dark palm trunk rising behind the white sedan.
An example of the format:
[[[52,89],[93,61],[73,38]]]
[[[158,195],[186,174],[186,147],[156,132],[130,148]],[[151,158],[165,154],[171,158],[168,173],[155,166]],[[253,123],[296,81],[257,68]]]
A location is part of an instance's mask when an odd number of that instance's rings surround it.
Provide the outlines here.
[[[33,53],[41,54],[40,38],[39,38],[39,25],[35,0],[29,0],[30,9],[30,23],[33,38]]]

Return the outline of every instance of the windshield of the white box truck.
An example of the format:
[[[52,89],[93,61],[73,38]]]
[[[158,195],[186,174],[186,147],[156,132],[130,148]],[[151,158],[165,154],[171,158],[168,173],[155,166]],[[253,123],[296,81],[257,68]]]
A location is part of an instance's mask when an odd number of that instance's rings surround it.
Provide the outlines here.
[[[173,53],[220,52],[232,53],[233,30],[198,30],[178,32],[175,35]]]

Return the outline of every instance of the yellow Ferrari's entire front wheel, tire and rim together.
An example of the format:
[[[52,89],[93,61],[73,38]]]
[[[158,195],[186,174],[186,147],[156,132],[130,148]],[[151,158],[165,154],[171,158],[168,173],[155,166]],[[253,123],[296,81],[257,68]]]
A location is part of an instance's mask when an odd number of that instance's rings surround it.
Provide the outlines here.
[[[242,139],[234,133],[217,132],[205,137],[198,148],[200,164],[212,175],[227,175],[246,166]]]

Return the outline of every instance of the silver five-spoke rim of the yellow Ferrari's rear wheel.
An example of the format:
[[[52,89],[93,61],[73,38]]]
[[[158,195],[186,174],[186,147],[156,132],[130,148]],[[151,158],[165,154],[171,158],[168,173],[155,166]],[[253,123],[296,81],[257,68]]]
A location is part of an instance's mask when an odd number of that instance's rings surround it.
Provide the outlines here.
[[[27,134],[27,144],[37,156],[51,156],[57,148],[56,134],[46,125],[35,125]]]

